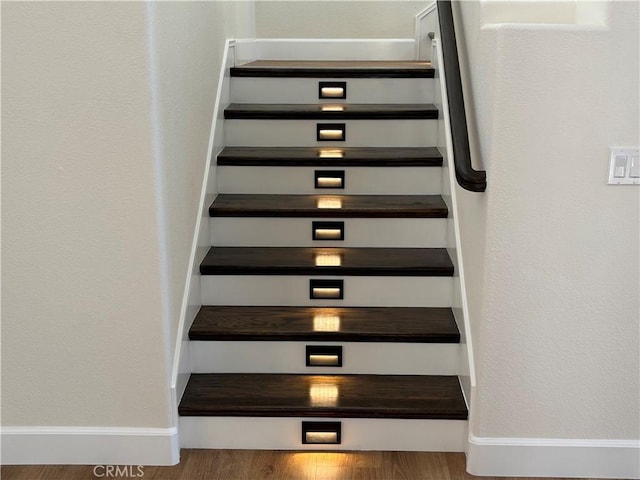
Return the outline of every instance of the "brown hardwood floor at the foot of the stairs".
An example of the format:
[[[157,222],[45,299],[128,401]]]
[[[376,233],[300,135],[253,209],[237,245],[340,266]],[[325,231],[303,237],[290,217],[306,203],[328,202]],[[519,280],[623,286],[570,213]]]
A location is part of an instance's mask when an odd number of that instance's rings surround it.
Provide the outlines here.
[[[2,466],[3,480],[96,480],[104,469],[83,465]],[[346,452],[271,450],[182,450],[175,467],[133,466],[144,480],[498,480],[465,472],[462,453]],[[500,477],[499,480],[514,480]],[[527,480],[536,480],[528,478]],[[545,479],[553,480],[553,479]],[[556,479],[557,480],[557,479]]]

